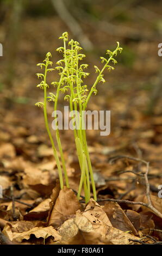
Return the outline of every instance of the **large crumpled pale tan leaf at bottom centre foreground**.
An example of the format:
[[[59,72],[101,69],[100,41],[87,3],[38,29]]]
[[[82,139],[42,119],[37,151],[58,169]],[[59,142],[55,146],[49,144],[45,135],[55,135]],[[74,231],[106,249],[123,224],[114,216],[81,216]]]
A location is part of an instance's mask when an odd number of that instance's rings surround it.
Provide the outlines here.
[[[104,222],[100,222],[100,228],[96,228],[94,222],[91,221],[84,216],[84,212],[80,214],[78,211],[76,218],[65,221],[59,228],[61,243],[68,245],[129,245],[132,243],[129,239],[139,239],[139,237],[119,229],[109,227]]]

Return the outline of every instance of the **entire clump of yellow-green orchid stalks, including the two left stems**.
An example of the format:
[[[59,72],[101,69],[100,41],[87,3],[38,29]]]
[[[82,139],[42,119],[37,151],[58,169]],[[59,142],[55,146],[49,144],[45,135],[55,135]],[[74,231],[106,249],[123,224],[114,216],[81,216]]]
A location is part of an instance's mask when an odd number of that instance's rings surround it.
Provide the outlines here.
[[[55,146],[53,143],[53,139],[51,136],[51,132],[49,131],[48,127],[48,121],[47,121],[47,111],[46,111],[46,102],[47,98],[48,101],[54,101],[54,113],[57,111],[57,104],[59,99],[59,92],[66,93],[64,99],[69,101],[70,105],[70,111],[73,113],[72,119],[75,117],[75,122],[73,121],[73,132],[74,132],[74,139],[76,143],[76,150],[77,150],[77,156],[79,161],[79,166],[81,170],[80,175],[80,183],[78,188],[78,200],[80,198],[80,193],[82,191],[82,187],[84,187],[84,194],[85,194],[85,202],[89,202],[90,200],[90,181],[92,186],[92,192],[94,195],[94,199],[97,200],[96,196],[96,187],[95,187],[95,181],[94,181],[94,174],[92,170],[89,150],[88,150],[88,144],[86,141],[86,131],[85,131],[85,123],[84,123],[84,111],[86,110],[86,107],[88,105],[88,102],[90,100],[90,97],[92,94],[97,94],[97,84],[102,82],[104,83],[104,75],[103,72],[105,69],[113,70],[114,67],[110,65],[110,63],[116,64],[117,61],[115,57],[117,56],[117,53],[122,51],[122,48],[119,46],[119,42],[117,42],[117,47],[114,51],[107,50],[107,54],[109,55],[108,59],[101,57],[101,62],[104,63],[103,68],[100,70],[97,66],[94,66],[96,69],[96,73],[98,73],[96,80],[94,84],[92,84],[90,90],[88,89],[88,86],[84,84],[84,78],[86,78],[89,73],[85,72],[85,69],[88,68],[88,64],[80,64],[80,61],[83,60],[85,57],[85,54],[80,53],[82,50],[82,47],[79,46],[79,42],[70,40],[68,41],[68,33],[63,33],[62,36],[60,36],[60,39],[63,40],[63,46],[57,48],[57,51],[60,53],[63,53],[63,59],[60,59],[57,62],[57,65],[55,67],[56,70],[59,70],[60,80],[59,82],[52,82],[53,86],[57,87],[57,92],[54,95],[53,93],[49,93],[50,96],[47,97],[46,95],[46,75],[48,71],[52,71],[52,69],[48,69],[48,65],[52,65],[52,62],[49,61],[49,57],[51,57],[51,54],[47,53],[46,59],[44,63],[40,63],[38,65],[45,66],[45,75],[43,74],[37,74],[38,77],[42,78],[42,82],[38,85],[38,87],[42,88],[44,90],[44,103],[38,102],[37,105],[43,105],[44,109],[44,116],[45,116],[45,124],[46,129],[49,135],[49,138],[52,143],[52,148],[54,151],[54,156],[58,164],[58,170],[59,170],[59,176],[60,176],[60,184],[61,187],[63,187],[63,176],[60,169],[60,162],[57,155],[57,151],[55,150]],[[67,42],[68,46],[67,47]],[[56,117],[56,114],[54,115]],[[64,175],[66,180],[66,185],[68,185],[68,178],[66,173],[66,167],[65,167],[65,160],[63,156],[63,150],[61,147],[60,142],[60,136],[59,136],[59,130],[56,130],[56,138],[57,138],[57,144],[60,151],[61,156],[61,162],[63,164],[64,169]]]

